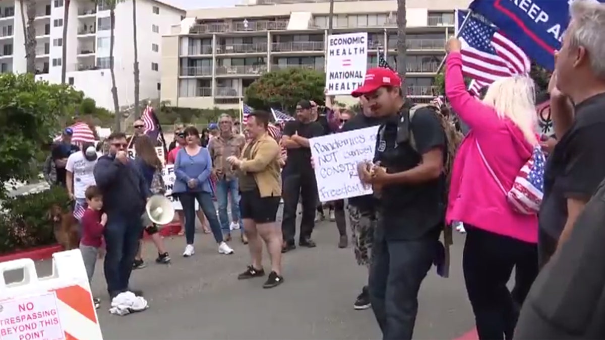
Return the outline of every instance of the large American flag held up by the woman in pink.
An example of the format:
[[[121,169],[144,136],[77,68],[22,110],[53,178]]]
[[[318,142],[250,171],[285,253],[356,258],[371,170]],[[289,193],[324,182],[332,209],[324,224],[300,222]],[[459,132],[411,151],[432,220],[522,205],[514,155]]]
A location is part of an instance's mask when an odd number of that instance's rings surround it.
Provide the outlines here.
[[[456,30],[459,30],[468,11],[456,11]],[[529,57],[497,27],[471,15],[462,28],[458,32],[462,42],[462,72],[474,80],[469,90],[475,95],[497,79],[529,73]]]

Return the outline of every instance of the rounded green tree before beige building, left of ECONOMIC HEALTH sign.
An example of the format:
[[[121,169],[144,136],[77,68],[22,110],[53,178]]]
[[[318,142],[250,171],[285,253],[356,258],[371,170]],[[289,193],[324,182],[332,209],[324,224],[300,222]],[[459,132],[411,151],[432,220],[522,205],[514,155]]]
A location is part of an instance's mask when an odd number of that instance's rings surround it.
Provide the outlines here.
[[[324,102],[325,74],[307,68],[287,68],[263,74],[246,90],[245,102],[255,109],[293,112],[301,99]]]

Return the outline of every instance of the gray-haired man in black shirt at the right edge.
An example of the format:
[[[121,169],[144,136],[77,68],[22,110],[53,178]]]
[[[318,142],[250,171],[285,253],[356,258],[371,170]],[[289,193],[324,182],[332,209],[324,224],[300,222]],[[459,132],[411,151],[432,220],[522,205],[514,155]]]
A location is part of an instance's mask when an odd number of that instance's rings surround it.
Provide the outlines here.
[[[581,25],[581,21],[574,22],[574,7],[578,18],[584,11],[601,11],[605,16],[605,4],[572,4],[572,21],[549,83],[551,116],[558,142],[546,165],[544,196],[538,214],[540,266],[569,238],[576,218],[605,178],[605,70],[595,66],[600,62],[595,60],[604,60],[605,55],[599,54],[603,54],[601,45],[593,39],[580,42],[571,38],[571,32]],[[589,29],[587,26],[583,31]],[[601,33],[594,32],[595,36]]]

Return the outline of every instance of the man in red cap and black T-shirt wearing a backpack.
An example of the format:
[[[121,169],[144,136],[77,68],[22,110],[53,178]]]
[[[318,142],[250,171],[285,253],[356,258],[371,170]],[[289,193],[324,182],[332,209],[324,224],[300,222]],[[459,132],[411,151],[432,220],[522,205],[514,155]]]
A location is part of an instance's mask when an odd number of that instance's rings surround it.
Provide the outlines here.
[[[379,166],[359,174],[380,195],[370,302],[383,339],[411,339],[418,291],[436,259],[444,221],[445,131],[430,108],[419,108],[410,120],[401,79],[387,68],[368,70],[352,95],[365,96],[373,113],[385,117],[376,138]]]

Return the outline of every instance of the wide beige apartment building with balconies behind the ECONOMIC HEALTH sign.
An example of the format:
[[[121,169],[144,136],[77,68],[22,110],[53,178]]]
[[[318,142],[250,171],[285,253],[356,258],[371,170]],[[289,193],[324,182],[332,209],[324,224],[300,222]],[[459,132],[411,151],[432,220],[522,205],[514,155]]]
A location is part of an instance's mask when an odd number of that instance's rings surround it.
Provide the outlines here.
[[[407,93],[430,98],[454,33],[454,8],[470,0],[407,0]],[[267,71],[324,71],[327,0],[246,0],[229,8],[187,11],[162,37],[162,100],[189,108],[237,108],[246,88]],[[368,32],[368,67],[384,48],[395,67],[396,0],[336,0],[333,33]],[[217,19],[218,18],[218,19]],[[350,96],[339,102],[355,103]]]

